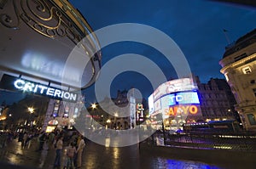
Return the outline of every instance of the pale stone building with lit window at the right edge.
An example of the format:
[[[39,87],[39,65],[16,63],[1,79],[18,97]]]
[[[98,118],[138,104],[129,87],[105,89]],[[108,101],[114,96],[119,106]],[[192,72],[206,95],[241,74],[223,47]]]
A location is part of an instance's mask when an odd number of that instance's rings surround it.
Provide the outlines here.
[[[226,47],[220,70],[236,99],[243,127],[256,130],[256,29]]]

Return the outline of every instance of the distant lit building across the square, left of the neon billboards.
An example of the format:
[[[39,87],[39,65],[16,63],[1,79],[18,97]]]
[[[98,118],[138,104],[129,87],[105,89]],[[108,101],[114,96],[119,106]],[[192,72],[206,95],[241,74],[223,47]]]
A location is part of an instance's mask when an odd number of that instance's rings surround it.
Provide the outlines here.
[[[130,99],[130,100],[129,100]],[[143,101],[142,101],[143,100]],[[88,127],[97,126],[94,122],[102,125],[102,127],[126,130],[137,126],[139,118],[143,122],[145,117],[141,104],[145,104],[145,99],[138,101],[127,90],[118,90],[116,98],[105,98],[100,103],[94,104],[87,108],[90,115],[87,116],[85,123]],[[143,103],[142,103],[143,102]],[[139,115],[137,111],[139,106]],[[95,107],[95,108],[92,108]],[[92,121],[94,119],[94,121]],[[90,122],[91,121],[91,122]],[[85,125],[86,125],[85,124]]]

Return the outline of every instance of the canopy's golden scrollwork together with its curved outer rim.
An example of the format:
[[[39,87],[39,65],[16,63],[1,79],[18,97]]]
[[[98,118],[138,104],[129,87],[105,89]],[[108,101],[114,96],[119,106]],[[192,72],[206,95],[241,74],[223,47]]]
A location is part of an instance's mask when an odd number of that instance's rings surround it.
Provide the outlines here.
[[[62,0],[0,0],[0,26],[17,30],[23,29],[26,26],[24,23],[44,37],[67,38],[75,45],[91,32],[90,26],[84,23],[84,20],[80,20],[76,9]],[[99,61],[100,65],[101,59],[97,53],[94,54],[95,50],[99,49],[98,43],[91,41],[90,38],[96,37],[88,37],[86,42],[81,42],[84,53],[91,54],[92,76],[87,86],[94,82],[95,62]]]

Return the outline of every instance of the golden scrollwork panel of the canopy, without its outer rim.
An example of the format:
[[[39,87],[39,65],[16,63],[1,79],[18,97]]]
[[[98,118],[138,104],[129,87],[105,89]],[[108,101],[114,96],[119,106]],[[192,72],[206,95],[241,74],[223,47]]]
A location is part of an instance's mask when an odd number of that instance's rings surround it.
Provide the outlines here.
[[[21,19],[45,37],[68,37],[75,44],[84,37],[68,20],[65,10],[62,12],[50,0],[0,0],[0,8],[3,8],[0,23],[8,28],[20,29]]]

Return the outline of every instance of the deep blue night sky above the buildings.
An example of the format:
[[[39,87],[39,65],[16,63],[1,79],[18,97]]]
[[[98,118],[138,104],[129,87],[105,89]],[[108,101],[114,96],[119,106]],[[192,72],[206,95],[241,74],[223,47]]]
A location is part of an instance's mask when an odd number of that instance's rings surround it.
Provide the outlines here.
[[[222,59],[228,41],[234,42],[256,28],[256,8],[230,3],[192,0],[69,2],[79,9],[94,31],[119,23],[149,25],[163,31],[183,51],[190,69],[200,76],[201,82],[207,82],[211,77],[224,78],[218,61]],[[229,39],[225,37],[224,29]],[[102,48],[102,65],[120,54],[141,54],[152,59],[165,73],[166,79],[176,78],[172,65],[166,64],[158,51],[137,42],[118,42]],[[118,89],[137,87],[143,97],[148,98],[153,93],[153,87],[148,83],[143,75],[125,72],[116,76],[110,90],[115,97]],[[84,93],[85,100],[96,102],[94,86]]]

